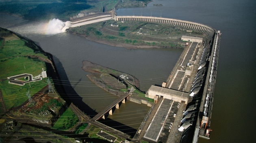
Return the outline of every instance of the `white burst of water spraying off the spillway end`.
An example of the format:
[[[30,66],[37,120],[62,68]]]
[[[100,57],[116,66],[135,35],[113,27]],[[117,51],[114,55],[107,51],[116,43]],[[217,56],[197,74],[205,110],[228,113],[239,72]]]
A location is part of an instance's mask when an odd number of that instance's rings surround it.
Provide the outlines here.
[[[59,34],[59,33],[65,32],[62,30],[63,27],[65,27],[65,22],[63,22],[59,19],[52,19],[47,23],[47,25],[44,29],[45,34],[54,35],[54,34]]]

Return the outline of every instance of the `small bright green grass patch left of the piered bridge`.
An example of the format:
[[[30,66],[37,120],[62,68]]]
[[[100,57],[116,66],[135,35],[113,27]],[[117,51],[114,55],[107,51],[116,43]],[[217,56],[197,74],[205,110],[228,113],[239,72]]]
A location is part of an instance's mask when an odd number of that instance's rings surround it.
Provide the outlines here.
[[[67,110],[61,115],[59,120],[57,120],[52,128],[56,130],[69,130],[72,128],[77,122],[78,117],[71,108],[67,108]]]

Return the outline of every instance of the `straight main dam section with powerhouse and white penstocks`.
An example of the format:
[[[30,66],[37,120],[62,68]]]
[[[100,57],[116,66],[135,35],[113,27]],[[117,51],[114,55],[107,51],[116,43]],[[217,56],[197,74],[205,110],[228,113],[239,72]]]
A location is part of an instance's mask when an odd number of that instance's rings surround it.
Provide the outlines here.
[[[156,123],[148,126],[144,140],[155,143],[197,143],[198,137],[210,139],[220,38],[220,31],[211,39],[183,37],[191,43],[184,49],[169,78],[162,87],[152,85],[145,95],[153,99],[163,98],[161,105],[169,100],[171,103],[165,107],[166,113],[159,107],[155,114],[156,118],[161,116],[161,119],[157,119],[158,127]],[[171,106],[173,102],[180,103],[176,106],[178,110]],[[172,123],[169,131],[165,130],[168,120]],[[163,137],[166,134],[168,138]]]

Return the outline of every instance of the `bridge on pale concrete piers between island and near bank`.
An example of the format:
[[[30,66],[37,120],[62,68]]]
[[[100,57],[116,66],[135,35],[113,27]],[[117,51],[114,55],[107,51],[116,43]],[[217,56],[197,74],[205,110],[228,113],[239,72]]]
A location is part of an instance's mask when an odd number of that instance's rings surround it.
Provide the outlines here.
[[[130,95],[122,95],[119,97],[117,100],[115,100],[113,103],[111,103],[109,106],[107,106],[104,110],[100,111],[96,116],[94,116],[91,120],[96,121],[99,120],[100,118],[105,119],[105,114],[113,114],[113,108],[115,107],[116,109],[119,109],[119,103],[125,103],[126,97]]]

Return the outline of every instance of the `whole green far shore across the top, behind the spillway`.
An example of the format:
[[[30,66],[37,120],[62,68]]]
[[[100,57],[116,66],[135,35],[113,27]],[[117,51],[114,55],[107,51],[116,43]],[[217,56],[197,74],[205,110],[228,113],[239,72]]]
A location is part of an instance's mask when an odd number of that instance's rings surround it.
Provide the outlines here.
[[[141,3],[143,2],[143,3]],[[111,11],[119,4],[120,7],[144,7],[150,0],[15,0],[1,1],[1,13],[9,13],[33,21],[49,20],[53,18],[62,21],[69,20],[81,12]],[[104,9],[104,7],[106,9]]]

